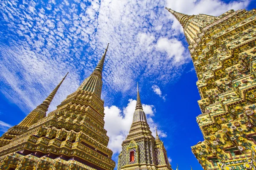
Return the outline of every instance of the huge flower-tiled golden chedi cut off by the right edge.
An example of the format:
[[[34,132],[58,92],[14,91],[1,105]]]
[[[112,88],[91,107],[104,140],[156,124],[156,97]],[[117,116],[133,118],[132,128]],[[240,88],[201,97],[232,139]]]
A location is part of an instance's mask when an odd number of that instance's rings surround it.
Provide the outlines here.
[[[219,17],[171,12],[183,27],[198,77],[205,170],[256,169],[256,9]]]

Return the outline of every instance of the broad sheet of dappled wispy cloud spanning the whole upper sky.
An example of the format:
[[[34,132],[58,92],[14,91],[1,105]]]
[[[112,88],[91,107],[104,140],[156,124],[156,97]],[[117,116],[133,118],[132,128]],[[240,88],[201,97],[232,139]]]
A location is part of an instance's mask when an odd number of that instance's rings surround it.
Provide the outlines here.
[[[190,61],[180,25],[165,6],[187,14],[218,15],[248,2],[1,1],[0,91],[28,113],[69,71],[52,111],[93,71],[110,42],[102,97],[111,105],[115,94],[126,95],[134,88],[135,79],[165,85]]]

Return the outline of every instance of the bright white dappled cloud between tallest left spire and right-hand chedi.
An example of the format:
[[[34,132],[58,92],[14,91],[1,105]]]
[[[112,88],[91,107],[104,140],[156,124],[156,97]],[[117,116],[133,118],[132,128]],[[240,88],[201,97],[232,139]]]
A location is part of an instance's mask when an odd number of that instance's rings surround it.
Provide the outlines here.
[[[158,7],[159,11],[151,10]],[[168,40],[173,37],[167,15],[164,2],[102,1],[96,40],[104,44],[110,41],[114,49],[109,50],[111,65],[105,66],[108,88],[115,87],[116,91],[126,93],[134,87],[136,78],[154,77],[165,84],[178,77],[180,66],[187,62],[183,60],[186,57],[182,57],[186,55],[185,48],[168,56],[157,47],[160,37]],[[176,42],[182,45],[179,40]]]

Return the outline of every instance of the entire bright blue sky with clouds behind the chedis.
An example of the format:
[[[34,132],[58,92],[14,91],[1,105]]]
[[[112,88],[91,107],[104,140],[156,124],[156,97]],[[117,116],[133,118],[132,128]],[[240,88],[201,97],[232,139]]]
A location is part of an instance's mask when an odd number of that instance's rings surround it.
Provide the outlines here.
[[[136,82],[153,134],[173,168],[201,170],[190,147],[203,140],[197,77],[183,30],[165,6],[218,16],[255,0],[0,1],[0,134],[39,105],[69,71],[49,111],[76,91],[110,42],[104,72],[105,128],[117,161],[131,126]],[[114,126],[115,125],[115,126]]]

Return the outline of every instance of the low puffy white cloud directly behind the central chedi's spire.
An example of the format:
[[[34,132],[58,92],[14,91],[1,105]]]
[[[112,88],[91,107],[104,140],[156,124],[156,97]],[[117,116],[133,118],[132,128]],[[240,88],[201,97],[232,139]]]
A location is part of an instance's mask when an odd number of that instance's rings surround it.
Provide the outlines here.
[[[107,135],[110,140],[108,147],[113,150],[113,153],[119,153],[122,150],[122,141],[125,140],[125,136],[128,135],[133,113],[136,107],[136,100],[129,99],[128,105],[122,110],[116,106],[105,107],[105,129],[108,131]],[[147,115],[148,125],[152,131],[152,135],[155,136],[155,127],[157,124],[153,121],[155,109],[153,105],[143,105],[143,111]],[[157,133],[160,137],[166,137],[166,133],[158,129]]]

